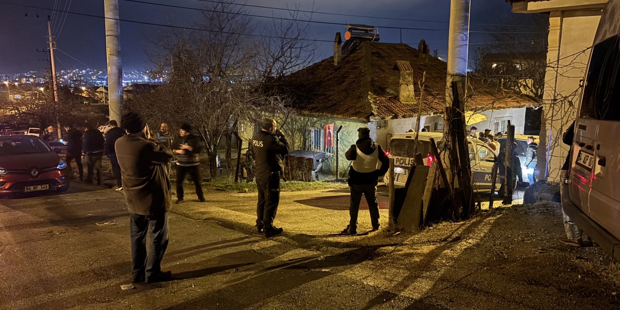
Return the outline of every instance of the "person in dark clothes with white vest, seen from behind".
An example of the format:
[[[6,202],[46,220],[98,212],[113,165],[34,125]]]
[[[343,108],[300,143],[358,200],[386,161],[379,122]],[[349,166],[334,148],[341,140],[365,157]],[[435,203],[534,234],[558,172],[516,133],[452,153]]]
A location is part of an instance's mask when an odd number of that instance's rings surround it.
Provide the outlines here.
[[[368,203],[373,231],[379,229],[377,183],[379,176],[386,174],[389,169],[389,158],[381,145],[374,143],[370,138],[370,129],[360,127],[357,131],[359,139],[345,154],[345,157],[353,162],[348,175],[348,185],[351,188],[350,221],[347,228],[342,231],[343,234],[357,234],[357,215],[360,211],[362,194]]]

